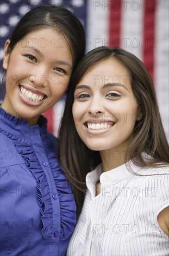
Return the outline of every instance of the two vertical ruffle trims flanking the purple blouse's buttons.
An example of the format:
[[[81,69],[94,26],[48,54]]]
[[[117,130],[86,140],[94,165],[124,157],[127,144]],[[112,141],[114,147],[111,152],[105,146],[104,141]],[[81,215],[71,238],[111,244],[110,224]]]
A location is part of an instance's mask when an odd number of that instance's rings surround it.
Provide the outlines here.
[[[53,225],[55,225],[55,223],[53,223],[53,208],[47,177],[41,168],[31,145],[23,145],[22,143],[19,143],[19,141],[14,141],[14,145],[19,154],[25,159],[27,167],[37,181],[37,189],[39,191],[38,202],[43,223],[42,235],[45,239],[49,239],[52,236]],[[49,152],[48,161],[50,163],[60,202],[60,240],[66,240],[72,234],[76,223],[75,200],[70,184],[66,180],[65,175],[56,161],[54,147],[47,144],[45,148],[46,152]]]

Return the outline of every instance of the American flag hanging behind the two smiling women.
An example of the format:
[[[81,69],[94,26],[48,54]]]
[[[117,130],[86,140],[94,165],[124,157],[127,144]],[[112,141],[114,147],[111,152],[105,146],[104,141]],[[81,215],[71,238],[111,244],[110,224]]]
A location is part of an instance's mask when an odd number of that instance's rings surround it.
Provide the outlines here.
[[[86,52],[118,46],[135,54],[148,68],[156,87],[163,126],[169,140],[169,0],[1,0],[0,59],[8,34],[19,19],[40,5],[68,8],[86,31]],[[0,100],[4,93],[1,85]],[[58,135],[64,100],[44,115],[48,130]]]

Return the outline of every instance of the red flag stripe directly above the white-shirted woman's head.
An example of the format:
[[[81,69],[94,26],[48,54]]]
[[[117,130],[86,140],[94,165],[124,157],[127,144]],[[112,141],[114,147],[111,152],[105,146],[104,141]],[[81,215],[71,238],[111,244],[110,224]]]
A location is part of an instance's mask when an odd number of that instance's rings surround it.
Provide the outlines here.
[[[111,44],[109,43],[109,46],[120,47],[121,0],[111,0],[109,20],[109,36],[111,40]]]

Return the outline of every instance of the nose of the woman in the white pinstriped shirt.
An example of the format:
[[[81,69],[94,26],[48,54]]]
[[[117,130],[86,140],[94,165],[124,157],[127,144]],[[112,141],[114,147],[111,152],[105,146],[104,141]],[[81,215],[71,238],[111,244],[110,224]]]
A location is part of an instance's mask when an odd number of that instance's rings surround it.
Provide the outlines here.
[[[104,106],[101,99],[98,97],[91,98],[89,102],[88,113],[94,116],[98,115],[97,117],[104,113]]]

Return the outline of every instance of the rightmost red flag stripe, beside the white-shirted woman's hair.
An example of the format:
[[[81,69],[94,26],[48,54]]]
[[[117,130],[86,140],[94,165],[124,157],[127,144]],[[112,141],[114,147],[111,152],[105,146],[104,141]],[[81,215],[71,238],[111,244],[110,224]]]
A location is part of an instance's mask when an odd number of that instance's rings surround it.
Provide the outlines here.
[[[144,53],[143,62],[148,68],[151,77],[154,74],[154,48],[156,47],[155,38],[155,11],[156,0],[144,1]]]

